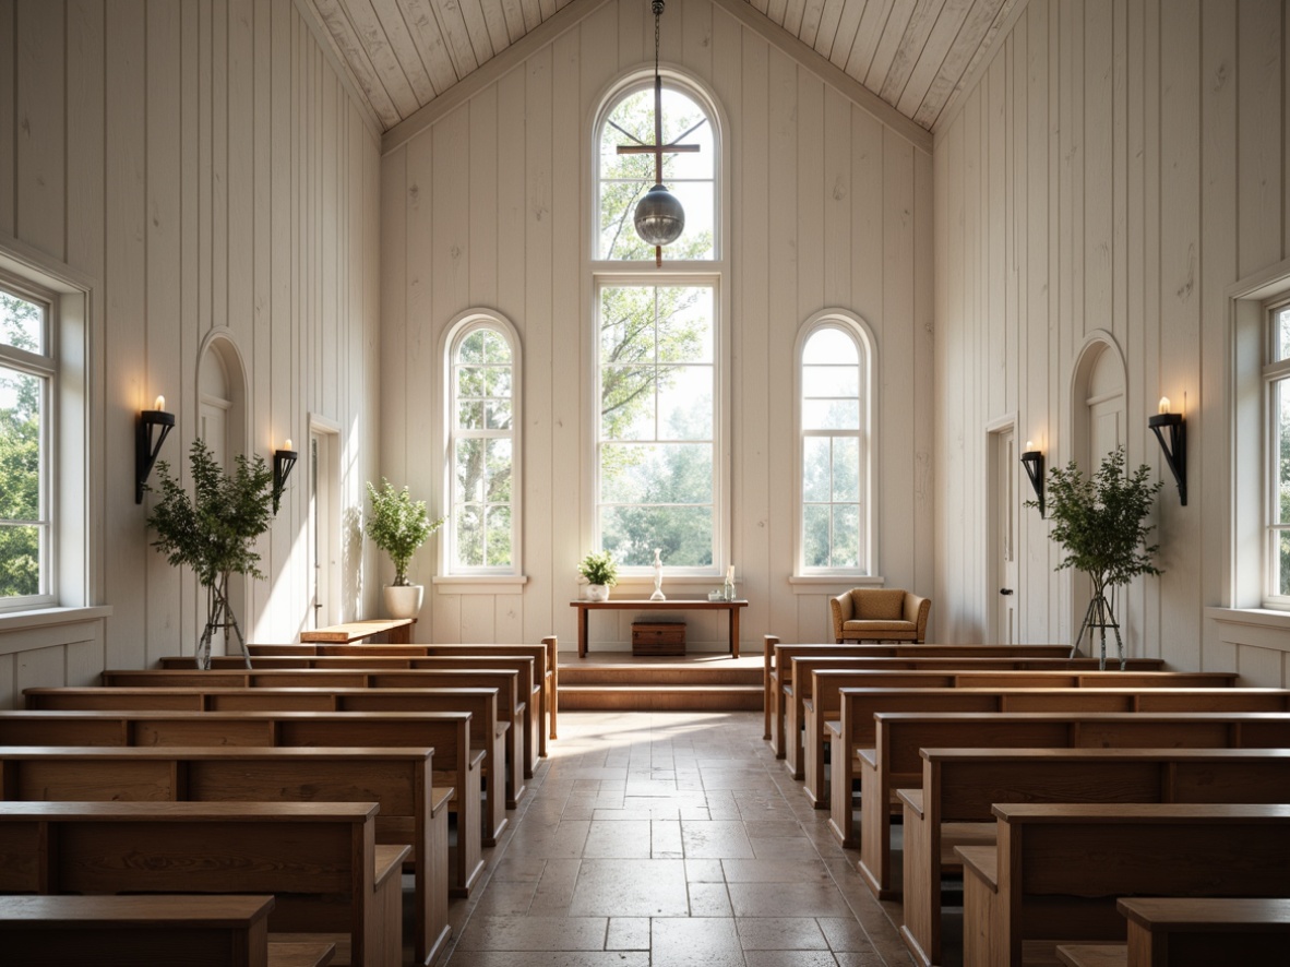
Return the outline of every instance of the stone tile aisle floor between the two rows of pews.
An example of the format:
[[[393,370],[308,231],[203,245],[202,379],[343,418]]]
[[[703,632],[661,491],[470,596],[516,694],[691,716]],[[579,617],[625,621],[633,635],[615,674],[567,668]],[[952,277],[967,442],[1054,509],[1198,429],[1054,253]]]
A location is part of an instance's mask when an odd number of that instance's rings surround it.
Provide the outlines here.
[[[441,967],[911,961],[760,712],[565,712]]]

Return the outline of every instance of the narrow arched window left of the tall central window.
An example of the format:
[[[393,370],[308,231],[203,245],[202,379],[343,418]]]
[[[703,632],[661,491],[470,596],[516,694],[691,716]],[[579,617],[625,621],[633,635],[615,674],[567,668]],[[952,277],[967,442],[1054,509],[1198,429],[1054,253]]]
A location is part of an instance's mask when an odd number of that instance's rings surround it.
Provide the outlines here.
[[[448,333],[449,575],[519,574],[520,339],[495,313],[468,312]]]

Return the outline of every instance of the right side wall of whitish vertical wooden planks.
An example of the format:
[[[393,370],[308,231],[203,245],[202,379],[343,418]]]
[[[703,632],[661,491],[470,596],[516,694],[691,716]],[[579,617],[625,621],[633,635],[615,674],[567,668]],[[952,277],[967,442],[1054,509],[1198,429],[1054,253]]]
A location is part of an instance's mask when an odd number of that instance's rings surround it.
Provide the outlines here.
[[[938,128],[938,637],[982,640],[993,603],[986,425],[1015,413],[1018,440],[1064,464],[1075,357],[1104,329],[1126,362],[1129,463],[1166,480],[1166,572],[1122,596],[1130,654],[1290,681],[1290,634],[1205,618],[1229,600],[1224,289],[1290,255],[1285,26],[1275,0],[1032,3]],[[1160,396],[1184,393],[1186,508],[1146,425]],[[1069,571],[1054,572],[1047,532],[1022,512],[1027,641],[1068,641],[1086,603]]]

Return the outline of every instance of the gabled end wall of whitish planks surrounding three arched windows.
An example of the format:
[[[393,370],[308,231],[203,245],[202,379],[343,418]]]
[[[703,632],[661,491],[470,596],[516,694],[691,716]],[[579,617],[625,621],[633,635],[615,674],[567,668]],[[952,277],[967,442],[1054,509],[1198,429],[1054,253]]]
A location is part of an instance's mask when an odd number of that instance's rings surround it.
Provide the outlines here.
[[[935,594],[931,159],[719,6],[688,0],[679,13],[663,18],[662,59],[711,85],[730,125],[731,545],[752,602],[742,638],[823,640],[827,594],[849,584],[795,593],[788,580],[791,360],[799,325],[822,308],[855,311],[877,337],[880,571],[889,585]],[[439,640],[555,632],[573,646],[569,601],[590,539],[590,119],[617,76],[653,59],[651,26],[646,5],[608,4],[383,159],[381,465],[391,480],[442,505],[439,464],[415,441],[441,410],[439,353],[453,317],[495,308],[524,344],[529,580],[519,594],[433,588],[422,619]],[[418,554],[422,578],[435,571],[433,544]],[[664,591],[698,596],[711,584]],[[939,602],[931,614],[938,621]],[[593,615],[604,621],[592,636],[622,647],[624,615]],[[724,647],[716,620],[690,625],[691,643]]]

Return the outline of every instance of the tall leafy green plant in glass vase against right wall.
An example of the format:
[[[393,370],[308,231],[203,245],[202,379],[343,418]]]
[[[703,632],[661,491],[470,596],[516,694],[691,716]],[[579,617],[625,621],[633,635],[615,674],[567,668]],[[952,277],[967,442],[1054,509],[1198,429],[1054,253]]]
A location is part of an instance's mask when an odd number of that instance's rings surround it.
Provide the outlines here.
[[[1090,640],[1100,632],[1100,668],[1107,667],[1107,628],[1115,630],[1121,669],[1125,663],[1124,641],[1115,615],[1115,589],[1139,574],[1162,572],[1152,563],[1160,545],[1146,545],[1147,535],[1155,527],[1146,520],[1164,482],[1151,484],[1149,476],[1151,467],[1147,464],[1131,474],[1125,472],[1124,446],[1107,454],[1091,477],[1085,477],[1075,460],[1049,472],[1047,516],[1053,521],[1053,540],[1066,549],[1066,557],[1055,570],[1075,567],[1089,575],[1093,583],[1093,597],[1080,634],[1071,646],[1071,656],[1078,651],[1085,632]],[[1028,500],[1026,505],[1038,507],[1038,502]]]

